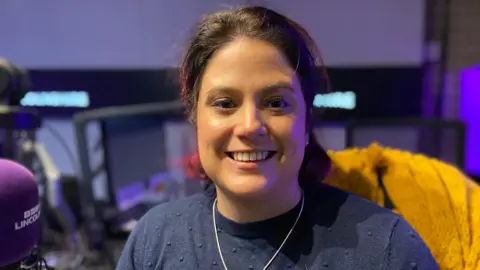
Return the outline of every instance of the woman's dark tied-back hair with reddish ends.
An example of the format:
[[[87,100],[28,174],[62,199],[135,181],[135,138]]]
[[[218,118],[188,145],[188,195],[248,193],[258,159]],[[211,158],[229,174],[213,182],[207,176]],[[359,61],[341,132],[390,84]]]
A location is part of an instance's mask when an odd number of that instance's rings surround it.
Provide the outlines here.
[[[250,37],[276,46],[296,69],[306,103],[309,144],[299,173],[300,184],[321,181],[330,159],[316,140],[312,106],[315,95],[328,78],[319,50],[308,32],[296,22],[265,7],[242,7],[207,15],[195,29],[180,68],[181,97],[190,120],[195,122],[199,85],[212,55],[238,37]],[[319,63],[318,63],[319,62]],[[320,64],[322,72],[319,72]],[[325,85],[325,84],[323,84]],[[195,177],[206,179],[198,153],[188,162]]]

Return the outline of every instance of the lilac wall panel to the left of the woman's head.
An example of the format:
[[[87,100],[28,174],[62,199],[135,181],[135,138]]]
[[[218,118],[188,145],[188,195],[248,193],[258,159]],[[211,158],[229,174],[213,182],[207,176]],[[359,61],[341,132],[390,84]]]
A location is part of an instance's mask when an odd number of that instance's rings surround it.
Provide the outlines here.
[[[0,57],[29,68],[175,65],[203,14],[243,0],[82,0],[0,3]]]

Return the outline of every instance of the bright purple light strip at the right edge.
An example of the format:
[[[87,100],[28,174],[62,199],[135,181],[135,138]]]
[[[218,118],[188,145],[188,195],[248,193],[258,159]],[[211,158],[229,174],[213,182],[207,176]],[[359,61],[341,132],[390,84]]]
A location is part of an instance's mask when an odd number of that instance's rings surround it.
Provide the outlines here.
[[[480,65],[460,74],[460,117],[466,125],[465,167],[480,175]]]

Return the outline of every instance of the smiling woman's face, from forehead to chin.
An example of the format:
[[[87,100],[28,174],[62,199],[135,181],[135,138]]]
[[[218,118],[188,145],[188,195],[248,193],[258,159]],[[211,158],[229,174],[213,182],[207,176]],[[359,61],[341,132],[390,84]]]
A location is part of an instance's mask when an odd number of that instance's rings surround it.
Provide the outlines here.
[[[200,161],[221,191],[258,196],[298,185],[306,106],[295,70],[276,47],[239,38],[218,50],[197,104]]]

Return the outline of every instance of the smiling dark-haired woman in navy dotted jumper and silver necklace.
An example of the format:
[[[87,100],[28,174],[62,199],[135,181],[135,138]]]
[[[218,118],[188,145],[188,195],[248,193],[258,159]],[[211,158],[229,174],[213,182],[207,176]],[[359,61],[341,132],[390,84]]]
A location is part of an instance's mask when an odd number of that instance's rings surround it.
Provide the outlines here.
[[[182,97],[197,130],[191,165],[213,185],[147,213],[117,269],[438,269],[401,217],[322,184],[319,59],[301,26],[263,7],[198,24]]]

